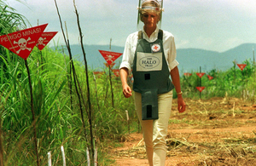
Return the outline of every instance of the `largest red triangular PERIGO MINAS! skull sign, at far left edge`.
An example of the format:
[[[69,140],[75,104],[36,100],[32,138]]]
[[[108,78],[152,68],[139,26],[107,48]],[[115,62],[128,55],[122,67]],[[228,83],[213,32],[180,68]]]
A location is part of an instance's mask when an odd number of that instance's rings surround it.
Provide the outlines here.
[[[48,24],[34,26],[25,30],[9,33],[8,35],[3,35],[0,37],[0,44],[26,60],[47,25]]]

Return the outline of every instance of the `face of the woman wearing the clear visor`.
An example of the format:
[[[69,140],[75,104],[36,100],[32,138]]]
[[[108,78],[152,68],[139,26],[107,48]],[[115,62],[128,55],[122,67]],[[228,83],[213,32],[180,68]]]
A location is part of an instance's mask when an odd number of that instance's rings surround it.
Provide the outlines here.
[[[154,12],[145,13],[143,14],[142,20],[146,28],[155,28],[159,21],[159,15]]]

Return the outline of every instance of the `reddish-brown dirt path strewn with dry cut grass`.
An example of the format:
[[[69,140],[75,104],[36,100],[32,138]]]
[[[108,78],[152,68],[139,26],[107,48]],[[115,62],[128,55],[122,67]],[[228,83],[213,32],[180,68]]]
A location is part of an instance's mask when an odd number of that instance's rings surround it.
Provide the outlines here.
[[[186,113],[170,117],[166,166],[254,165],[256,106],[237,99],[187,100],[187,105]],[[111,152],[113,165],[148,166],[143,146],[142,134],[127,135]]]

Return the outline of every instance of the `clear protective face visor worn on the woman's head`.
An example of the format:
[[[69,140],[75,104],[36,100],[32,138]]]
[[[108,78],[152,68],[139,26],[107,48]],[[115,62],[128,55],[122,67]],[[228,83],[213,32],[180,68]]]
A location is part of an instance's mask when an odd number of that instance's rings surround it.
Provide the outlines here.
[[[154,5],[154,6],[153,6]],[[160,20],[157,24],[157,26],[161,27],[161,20],[162,20],[162,12],[164,11],[163,7],[163,1],[157,1],[157,0],[139,0],[138,5],[138,13],[137,13],[137,30],[141,31],[143,30],[144,23],[141,20],[142,12],[143,11],[150,11],[160,14]]]

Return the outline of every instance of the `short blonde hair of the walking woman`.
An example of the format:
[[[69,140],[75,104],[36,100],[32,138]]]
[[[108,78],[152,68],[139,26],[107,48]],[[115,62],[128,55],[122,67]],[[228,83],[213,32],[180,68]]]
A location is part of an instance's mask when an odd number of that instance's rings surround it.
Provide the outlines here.
[[[149,7],[149,8],[147,8]],[[147,13],[155,13],[161,17],[160,3],[157,0],[145,0],[142,4],[142,8],[139,9],[140,19],[143,21],[143,15]]]

